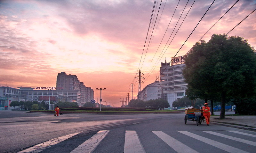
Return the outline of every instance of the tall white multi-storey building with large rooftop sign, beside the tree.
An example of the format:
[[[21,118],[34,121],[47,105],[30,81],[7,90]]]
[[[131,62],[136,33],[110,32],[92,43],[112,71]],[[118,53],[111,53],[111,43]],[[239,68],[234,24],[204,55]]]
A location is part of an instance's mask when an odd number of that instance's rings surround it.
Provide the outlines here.
[[[160,92],[161,98],[167,100],[172,107],[173,101],[179,101],[185,96],[187,84],[185,83],[182,69],[185,56],[173,58],[170,63],[161,63],[160,68]]]

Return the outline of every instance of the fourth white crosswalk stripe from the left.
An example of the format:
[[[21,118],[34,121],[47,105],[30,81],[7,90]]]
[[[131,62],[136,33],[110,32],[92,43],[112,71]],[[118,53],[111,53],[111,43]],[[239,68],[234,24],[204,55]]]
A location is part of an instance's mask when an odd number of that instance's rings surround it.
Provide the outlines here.
[[[178,153],[199,153],[196,150],[188,147],[182,142],[172,138],[170,135],[165,134],[162,131],[152,131],[156,134],[160,139],[162,139],[165,143],[167,143],[172,149],[177,151]]]

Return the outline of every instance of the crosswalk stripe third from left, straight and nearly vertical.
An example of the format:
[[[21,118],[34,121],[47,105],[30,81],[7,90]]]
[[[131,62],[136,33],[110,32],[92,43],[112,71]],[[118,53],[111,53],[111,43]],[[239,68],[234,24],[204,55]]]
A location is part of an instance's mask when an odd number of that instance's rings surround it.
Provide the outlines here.
[[[136,131],[125,131],[124,153],[146,153]]]

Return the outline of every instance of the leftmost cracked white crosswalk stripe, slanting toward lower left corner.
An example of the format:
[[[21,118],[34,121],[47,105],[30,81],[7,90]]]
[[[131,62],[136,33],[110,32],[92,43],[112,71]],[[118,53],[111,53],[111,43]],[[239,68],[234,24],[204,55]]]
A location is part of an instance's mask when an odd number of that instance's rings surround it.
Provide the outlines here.
[[[70,134],[70,135],[65,135],[65,136],[61,136],[61,137],[58,137],[58,138],[54,138],[52,140],[37,144],[37,145],[35,145],[33,147],[30,147],[28,149],[21,150],[17,153],[38,153],[38,152],[43,151],[44,149],[50,148],[53,145],[55,145],[57,143],[60,143],[60,142],[66,140],[66,139],[68,139],[68,138],[70,138],[74,135],[77,135],[77,134],[78,133],[73,133],[73,134]]]

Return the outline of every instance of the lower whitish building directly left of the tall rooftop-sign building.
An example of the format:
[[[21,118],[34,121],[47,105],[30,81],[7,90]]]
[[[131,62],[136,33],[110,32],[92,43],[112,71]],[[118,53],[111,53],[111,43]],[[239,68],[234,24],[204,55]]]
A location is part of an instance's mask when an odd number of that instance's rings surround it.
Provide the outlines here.
[[[148,101],[150,99],[160,99],[160,83],[159,81],[155,81],[152,84],[148,84],[146,87],[143,88],[140,93],[140,99],[143,101]]]

